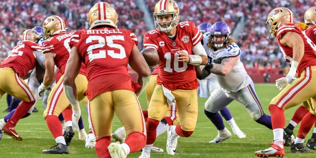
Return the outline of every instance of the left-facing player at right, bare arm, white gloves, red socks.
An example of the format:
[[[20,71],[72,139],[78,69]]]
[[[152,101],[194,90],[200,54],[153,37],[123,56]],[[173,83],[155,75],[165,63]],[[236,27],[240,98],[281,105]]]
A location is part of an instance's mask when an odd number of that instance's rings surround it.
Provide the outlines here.
[[[316,45],[294,24],[294,14],[288,8],[273,9],[268,15],[266,24],[268,37],[277,39],[284,59],[291,67],[286,77],[276,82],[277,86],[284,88],[269,105],[274,134],[272,146],[256,151],[255,155],[257,157],[284,156],[284,111],[303,102],[310,113],[302,119],[297,135],[299,139],[292,144],[290,153],[310,152],[309,148],[303,146],[303,142],[316,121],[316,80],[313,78],[316,75]],[[308,119],[305,119],[307,117]]]

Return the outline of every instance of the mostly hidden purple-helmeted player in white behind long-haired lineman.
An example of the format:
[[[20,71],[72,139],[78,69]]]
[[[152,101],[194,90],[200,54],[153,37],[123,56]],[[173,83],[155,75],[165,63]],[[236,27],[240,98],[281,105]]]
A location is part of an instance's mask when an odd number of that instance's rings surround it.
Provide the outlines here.
[[[207,41],[208,41],[209,37],[211,36],[211,34],[210,34],[211,27],[212,27],[212,24],[210,24],[210,23],[201,23],[200,25],[197,26],[197,28],[203,34],[203,40],[201,40],[201,43],[204,46],[204,49],[205,49],[206,53],[209,52],[209,51],[207,51],[209,49],[207,47]],[[210,55],[208,55],[208,56],[210,56]],[[201,68],[203,68],[203,67],[201,67]],[[200,69],[200,67],[196,66],[196,69]],[[205,79],[198,79],[198,81],[199,81],[198,94],[199,94],[200,97],[203,97],[203,98],[208,98],[212,94],[213,90],[217,86],[219,86],[218,81],[217,81],[217,79],[215,77],[215,74],[210,74]],[[222,110],[220,110],[220,112],[221,112],[221,115],[228,122],[228,124],[232,127],[232,130],[233,130],[234,134],[240,139],[246,138],[246,134],[244,134],[239,129],[239,127],[236,124],[235,119],[232,117],[231,112],[229,111],[229,109],[227,107],[224,107]],[[231,137],[231,135],[232,134],[228,134],[227,138]],[[215,139],[210,141],[210,143],[219,143],[219,142],[221,142],[221,141],[217,141],[217,140],[218,140],[218,138],[215,137]]]

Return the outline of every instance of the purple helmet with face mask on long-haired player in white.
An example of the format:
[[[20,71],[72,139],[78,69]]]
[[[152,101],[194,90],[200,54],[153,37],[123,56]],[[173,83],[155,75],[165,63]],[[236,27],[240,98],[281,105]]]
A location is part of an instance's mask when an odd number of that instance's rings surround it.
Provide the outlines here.
[[[215,24],[213,24],[212,27],[210,28],[210,34],[211,36],[209,38],[212,45],[215,48],[221,48],[229,41],[229,38],[231,36],[231,29],[225,22],[218,21]],[[222,37],[224,36],[224,40],[222,41],[214,40],[214,37],[219,38],[220,36]]]

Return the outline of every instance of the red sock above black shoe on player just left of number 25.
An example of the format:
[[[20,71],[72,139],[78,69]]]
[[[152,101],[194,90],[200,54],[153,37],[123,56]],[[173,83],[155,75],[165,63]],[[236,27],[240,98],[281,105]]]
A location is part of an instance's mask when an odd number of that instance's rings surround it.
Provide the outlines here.
[[[63,127],[61,126],[57,116],[49,115],[46,116],[45,119],[48,129],[50,130],[50,133],[54,136],[55,139],[59,136],[63,136]]]

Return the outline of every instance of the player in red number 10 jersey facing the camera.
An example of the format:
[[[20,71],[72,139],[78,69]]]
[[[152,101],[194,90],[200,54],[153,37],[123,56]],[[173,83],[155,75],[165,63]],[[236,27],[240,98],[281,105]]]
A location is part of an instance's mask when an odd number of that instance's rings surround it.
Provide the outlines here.
[[[174,0],[159,0],[153,15],[156,29],[146,33],[144,47],[158,52],[159,75],[148,107],[147,143],[139,158],[150,157],[157,126],[175,102],[180,123],[168,126],[168,155],[175,154],[180,136],[192,135],[198,109],[195,65],[207,63],[206,52],[200,42],[203,34],[193,22],[179,22],[179,7]]]

